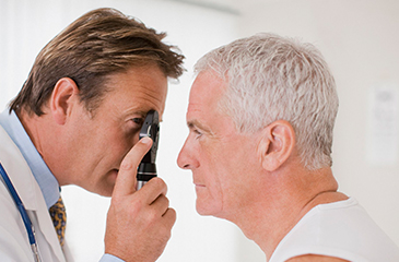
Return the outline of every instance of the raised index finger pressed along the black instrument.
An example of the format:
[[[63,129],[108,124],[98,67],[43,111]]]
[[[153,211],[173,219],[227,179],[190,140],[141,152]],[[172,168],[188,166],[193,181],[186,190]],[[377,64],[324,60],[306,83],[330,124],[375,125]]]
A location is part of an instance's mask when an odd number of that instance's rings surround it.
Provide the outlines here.
[[[136,191],[137,168],[151,145],[152,140],[150,138],[143,138],[125,156],[119,167],[113,198],[128,195]]]

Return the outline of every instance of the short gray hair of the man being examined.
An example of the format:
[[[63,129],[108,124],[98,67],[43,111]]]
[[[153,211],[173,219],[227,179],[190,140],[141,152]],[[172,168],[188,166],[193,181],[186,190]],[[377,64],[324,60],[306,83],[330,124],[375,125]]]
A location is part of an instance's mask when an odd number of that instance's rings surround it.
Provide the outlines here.
[[[289,121],[304,166],[331,166],[338,95],[321,53],[310,44],[274,34],[235,40],[203,56],[196,73],[214,71],[227,83],[220,107],[242,133]]]

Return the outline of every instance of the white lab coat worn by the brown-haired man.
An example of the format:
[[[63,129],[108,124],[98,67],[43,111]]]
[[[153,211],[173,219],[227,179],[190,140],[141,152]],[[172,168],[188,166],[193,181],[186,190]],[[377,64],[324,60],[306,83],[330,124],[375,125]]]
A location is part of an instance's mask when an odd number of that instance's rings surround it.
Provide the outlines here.
[[[39,186],[17,146],[0,126],[0,162],[24,203],[36,231],[43,262],[72,261],[67,243],[59,245]],[[34,261],[27,233],[13,199],[0,181],[0,261]]]

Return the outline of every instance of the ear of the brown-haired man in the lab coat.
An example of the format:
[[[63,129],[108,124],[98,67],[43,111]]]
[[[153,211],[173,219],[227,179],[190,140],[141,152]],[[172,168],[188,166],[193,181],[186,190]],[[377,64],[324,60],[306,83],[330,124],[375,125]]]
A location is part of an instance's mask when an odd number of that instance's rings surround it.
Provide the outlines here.
[[[79,88],[77,83],[62,78],[56,83],[49,100],[49,109],[58,124],[63,124],[71,112],[72,107],[79,102]]]

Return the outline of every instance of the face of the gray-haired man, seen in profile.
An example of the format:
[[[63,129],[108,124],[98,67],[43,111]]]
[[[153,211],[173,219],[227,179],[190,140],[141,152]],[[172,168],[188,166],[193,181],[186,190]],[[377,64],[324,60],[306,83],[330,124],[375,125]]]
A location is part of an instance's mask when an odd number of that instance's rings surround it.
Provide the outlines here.
[[[226,86],[211,72],[201,72],[192,84],[187,110],[189,134],[178,156],[190,169],[201,215],[234,219],[250,201],[256,140],[240,134],[218,104]]]

